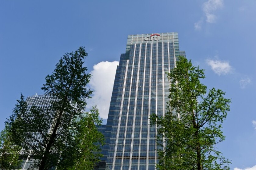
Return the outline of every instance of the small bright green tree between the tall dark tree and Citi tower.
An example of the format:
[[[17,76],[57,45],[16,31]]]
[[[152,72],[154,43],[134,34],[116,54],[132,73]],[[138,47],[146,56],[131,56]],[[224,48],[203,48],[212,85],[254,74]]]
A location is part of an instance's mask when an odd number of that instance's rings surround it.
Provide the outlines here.
[[[98,119],[99,112],[93,107],[78,119],[77,130],[74,133],[74,147],[63,151],[62,154],[69,156],[57,167],[59,170],[93,170],[94,164],[100,161],[100,145],[104,144],[104,136],[98,131],[96,125],[101,125],[102,119]],[[69,161],[72,164],[69,165]]]

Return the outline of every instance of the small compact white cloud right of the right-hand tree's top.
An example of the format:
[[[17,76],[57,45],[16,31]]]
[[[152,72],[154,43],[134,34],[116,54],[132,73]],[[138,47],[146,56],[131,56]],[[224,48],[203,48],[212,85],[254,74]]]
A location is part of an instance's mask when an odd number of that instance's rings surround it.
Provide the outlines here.
[[[219,76],[232,72],[232,67],[229,65],[229,62],[207,59],[206,63],[211,66],[214,73],[218,74]]]

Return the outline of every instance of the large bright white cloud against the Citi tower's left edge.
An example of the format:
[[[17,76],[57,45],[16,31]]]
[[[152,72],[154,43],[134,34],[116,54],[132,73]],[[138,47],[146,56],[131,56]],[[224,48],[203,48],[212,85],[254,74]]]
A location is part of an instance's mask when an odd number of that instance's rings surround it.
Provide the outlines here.
[[[87,100],[87,108],[97,105],[100,117],[103,119],[108,118],[108,109],[118,64],[118,61],[99,62],[93,66],[93,70],[90,72],[92,78],[89,87],[94,91],[92,98]]]

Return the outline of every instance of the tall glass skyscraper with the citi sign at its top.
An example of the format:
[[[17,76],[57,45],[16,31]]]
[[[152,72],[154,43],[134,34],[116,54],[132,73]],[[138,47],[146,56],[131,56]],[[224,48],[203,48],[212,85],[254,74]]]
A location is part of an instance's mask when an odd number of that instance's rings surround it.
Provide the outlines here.
[[[112,92],[103,147],[112,170],[153,170],[158,161],[152,113],[164,116],[169,100],[166,72],[180,51],[177,33],[129,35]],[[106,152],[107,151],[107,152]],[[107,153],[107,154],[106,154]]]

